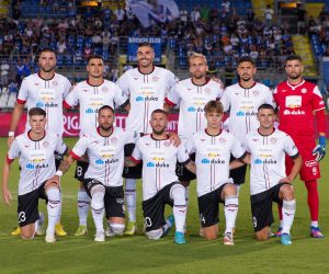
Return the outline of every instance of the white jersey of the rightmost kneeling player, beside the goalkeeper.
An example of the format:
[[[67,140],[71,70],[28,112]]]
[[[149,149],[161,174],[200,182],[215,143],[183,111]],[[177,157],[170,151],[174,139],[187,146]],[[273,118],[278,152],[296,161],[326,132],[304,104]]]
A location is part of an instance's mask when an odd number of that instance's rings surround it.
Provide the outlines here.
[[[268,191],[286,176],[285,155],[298,156],[293,139],[275,129],[263,136],[258,130],[246,136],[245,147],[250,153],[250,192],[251,195]]]

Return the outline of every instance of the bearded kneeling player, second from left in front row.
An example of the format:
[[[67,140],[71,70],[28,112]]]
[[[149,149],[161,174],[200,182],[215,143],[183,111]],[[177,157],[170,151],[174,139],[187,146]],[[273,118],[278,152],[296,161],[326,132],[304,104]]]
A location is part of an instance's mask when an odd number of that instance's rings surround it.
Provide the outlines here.
[[[73,147],[70,156],[59,165],[59,181],[75,160],[88,155],[89,167],[84,174],[83,187],[91,197],[91,212],[97,233],[94,241],[105,241],[103,227],[104,212],[107,219],[107,236],[122,235],[125,228],[125,206],[122,171],[124,168],[124,132],[114,127],[114,111],[110,105],[99,110],[98,127],[84,133]]]

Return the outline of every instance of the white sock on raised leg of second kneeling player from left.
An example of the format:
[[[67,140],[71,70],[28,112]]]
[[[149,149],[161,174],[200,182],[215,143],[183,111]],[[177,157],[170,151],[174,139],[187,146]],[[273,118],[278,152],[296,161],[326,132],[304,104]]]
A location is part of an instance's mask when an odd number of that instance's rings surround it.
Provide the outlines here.
[[[91,197],[91,213],[97,229],[97,233],[104,232],[104,192],[95,192]]]

